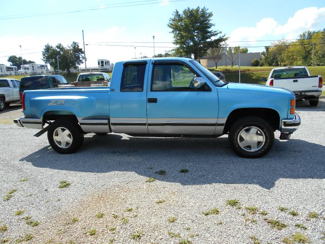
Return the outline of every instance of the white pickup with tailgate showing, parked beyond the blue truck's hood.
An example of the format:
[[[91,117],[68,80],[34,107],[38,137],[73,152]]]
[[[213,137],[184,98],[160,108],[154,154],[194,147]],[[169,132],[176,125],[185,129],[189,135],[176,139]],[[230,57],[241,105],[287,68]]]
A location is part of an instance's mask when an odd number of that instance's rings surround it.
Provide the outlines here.
[[[305,66],[281,67],[271,70],[266,85],[291,90],[296,100],[309,100],[310,106],[317,106],[323,80],[320,75],[311,76]]]

